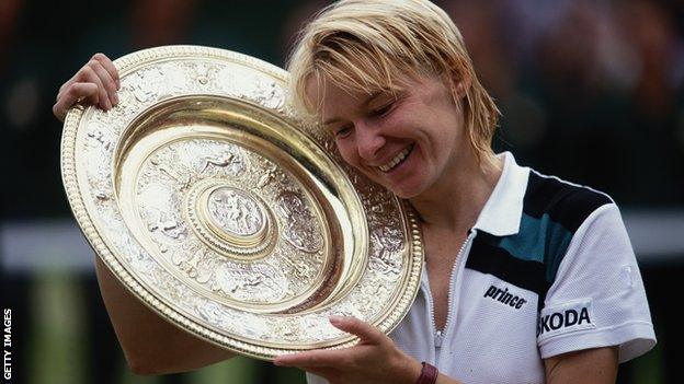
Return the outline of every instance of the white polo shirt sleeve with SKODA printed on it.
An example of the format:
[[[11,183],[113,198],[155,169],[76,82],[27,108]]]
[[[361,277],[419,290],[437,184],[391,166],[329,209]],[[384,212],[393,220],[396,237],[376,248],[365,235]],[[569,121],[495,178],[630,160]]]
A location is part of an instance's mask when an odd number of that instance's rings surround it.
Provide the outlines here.
[[[639,267],[615,203],[594,210],[578,228],[539,314],[543,359],[619,346],[619,362],[656,345]]]

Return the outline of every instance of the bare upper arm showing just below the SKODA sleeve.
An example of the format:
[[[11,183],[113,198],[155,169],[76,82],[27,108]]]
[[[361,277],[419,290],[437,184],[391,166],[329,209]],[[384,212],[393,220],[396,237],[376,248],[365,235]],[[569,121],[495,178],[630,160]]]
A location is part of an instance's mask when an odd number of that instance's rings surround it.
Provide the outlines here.
[[[568,352],[544,360],[546,382],[615,383],[617,377],[617,347],[604,347]]]

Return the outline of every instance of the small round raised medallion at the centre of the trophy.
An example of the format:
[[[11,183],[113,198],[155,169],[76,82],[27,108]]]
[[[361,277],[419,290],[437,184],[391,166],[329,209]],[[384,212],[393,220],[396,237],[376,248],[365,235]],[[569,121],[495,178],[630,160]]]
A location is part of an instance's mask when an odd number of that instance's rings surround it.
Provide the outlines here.
[[[185,202],[200,238],[232,259],[253,260],[273,248],[273,213],[255,194],[225,179],[195,184]]]

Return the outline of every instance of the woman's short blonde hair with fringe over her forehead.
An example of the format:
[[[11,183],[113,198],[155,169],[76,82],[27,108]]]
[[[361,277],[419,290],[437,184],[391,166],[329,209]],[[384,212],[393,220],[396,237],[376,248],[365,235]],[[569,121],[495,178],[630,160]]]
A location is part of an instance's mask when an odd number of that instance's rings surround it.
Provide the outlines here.
[[[299,33],[287,62],[295,107],[318,115],[307,94],[309,79],[346,91],[397,91],[398,79],[434,73],[465,80],[464,117],[469,141],[482,162],[492,164],[491,141],[499,118],[480,84],[460,32],[451,18],[426,0],[342,0],[322,9]],[[469,86],[468,86],[469,85]]]

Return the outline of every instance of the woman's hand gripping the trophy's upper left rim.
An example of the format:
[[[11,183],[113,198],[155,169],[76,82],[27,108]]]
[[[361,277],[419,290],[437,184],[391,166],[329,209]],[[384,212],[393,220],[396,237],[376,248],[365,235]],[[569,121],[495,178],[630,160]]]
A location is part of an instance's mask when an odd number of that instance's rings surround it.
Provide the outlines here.
[[[104,54],[95,54],[76,74],[59,88],[53,113],[64,121],[77,102],[96,105],[104,110],[118,104],[118,70]]]

